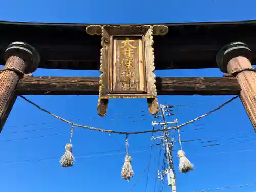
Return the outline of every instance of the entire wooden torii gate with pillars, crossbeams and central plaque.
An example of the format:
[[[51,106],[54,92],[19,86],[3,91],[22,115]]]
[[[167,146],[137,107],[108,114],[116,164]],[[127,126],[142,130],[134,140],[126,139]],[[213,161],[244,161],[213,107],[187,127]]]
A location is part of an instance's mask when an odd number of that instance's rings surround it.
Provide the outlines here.
[[[150,112],[155,114],[156,90],[158,95],[239,95],[256,129],[256,73],[251,65],[256,61],[252,54],[256,50],[255,24],[256,21],[162,25],[0,22],[0,61],[6,61],[0,73],[0,131],[19,94],[100,93],[98,113],[104,116],[109,98],[147,98]],[[121,53],[128,42],[125,40],[129,39],[133,42],[129,49],[135,50],[133,56],[128,56],[127,50]],[[101,67],[102,75],[100,80],[29,75],[38,67],[76,70]],[[156,77],[155,81],[153,73],[154,68],[215,67],[227,74],[203,78]]]

